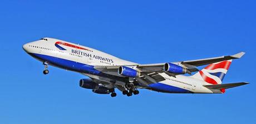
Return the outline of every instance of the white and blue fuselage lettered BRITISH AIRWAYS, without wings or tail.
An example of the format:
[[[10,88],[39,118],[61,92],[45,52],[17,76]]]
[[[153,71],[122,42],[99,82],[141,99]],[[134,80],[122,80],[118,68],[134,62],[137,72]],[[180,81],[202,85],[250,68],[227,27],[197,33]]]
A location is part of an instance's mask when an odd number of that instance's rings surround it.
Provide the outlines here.
[[[58,44],[56,44],[56,42],[58,42]],[[70,47],[65,47],[65,50],[58,48],[58,46],[62,47],[62,43],[66,43],[66,45]],[[108,80],[108,77],[102,77],[101,75],[97,75],[99,73],[97,71],[91,71],[91,73],[87,73],[83,72],[82,70],[77,70],[76,63],[79,63],[80,65],[89,65],[92,67],[124,65],[129,66],[137,64],[134,62],[125,61],[124,59],[117,58],[115,56],[98,51],[93,48],[81,46],[66,41],[61,41],[60,39],[54,38],[44,38],[39,41],[24,44],[23,49],[27,53],[31,54],[31,56],[37,58],[42,62],[52,61],[50,62],[50,65],[64,68],[65,70],[80,72],[83,75],[91,76],[93,78],[97,78],[98,80],[104,80],[105,82],[109,83],[111,83],[111,81]],[[176,77],[170,77],[165,73],[161,73],[160,75],[165,78],[165,81],[161,81],[159,83],[164,84],[166,86],[186,90],[190,93],[213,93],[213,91],[203,86],[207,85],[208,83],[201,80],[196,80],[195,78],[191,78],[190,76],[178,75]],[[117,81],[116,83],[124,85],[124,82],[121,81]],[[172,93],[171,91],[163,91],[163,89],[155,90],[160,92]]]

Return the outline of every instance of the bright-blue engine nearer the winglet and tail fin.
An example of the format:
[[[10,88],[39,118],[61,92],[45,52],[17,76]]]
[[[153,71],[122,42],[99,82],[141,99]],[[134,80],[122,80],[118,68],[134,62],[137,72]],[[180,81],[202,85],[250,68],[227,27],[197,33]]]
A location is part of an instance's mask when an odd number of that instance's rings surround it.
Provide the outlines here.
[[[177,74],[185,74],[187,72],[186,68],[175,65],[173,63],[165,63],[164,71]]]

